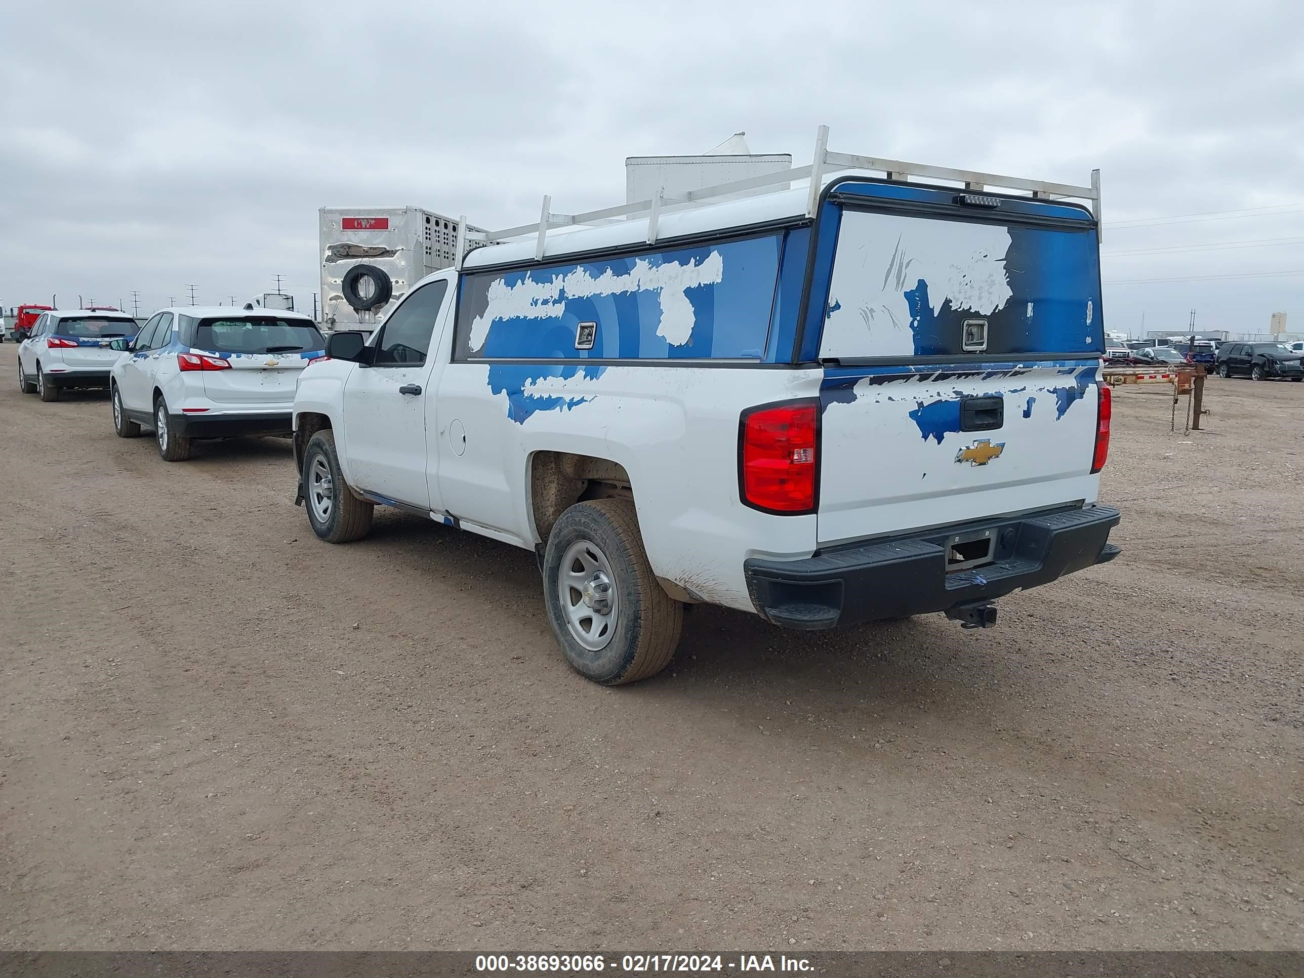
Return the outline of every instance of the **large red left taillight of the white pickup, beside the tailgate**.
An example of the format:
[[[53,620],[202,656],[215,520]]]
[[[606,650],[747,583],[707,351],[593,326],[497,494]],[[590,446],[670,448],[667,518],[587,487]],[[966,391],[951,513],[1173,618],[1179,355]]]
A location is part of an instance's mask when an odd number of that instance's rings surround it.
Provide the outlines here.
[[[742,501],[767,512],[815,511],[819,403],[794,400],[742,416],[738,482]]]

